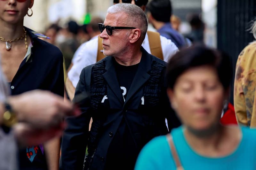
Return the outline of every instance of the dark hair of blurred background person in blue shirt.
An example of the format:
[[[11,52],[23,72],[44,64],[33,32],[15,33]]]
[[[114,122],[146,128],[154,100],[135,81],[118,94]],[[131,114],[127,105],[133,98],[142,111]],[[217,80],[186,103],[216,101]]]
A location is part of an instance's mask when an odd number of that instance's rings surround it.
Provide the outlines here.
[[[172,15],[172,4],[170,0],[152,0],[147,5],[153,18],[157,21],[170,22]]]

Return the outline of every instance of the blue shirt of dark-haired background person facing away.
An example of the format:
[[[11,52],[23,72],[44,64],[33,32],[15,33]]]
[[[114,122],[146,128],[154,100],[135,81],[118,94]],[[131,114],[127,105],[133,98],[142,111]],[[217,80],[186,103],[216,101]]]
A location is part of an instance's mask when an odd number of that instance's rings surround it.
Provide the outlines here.
[[[172,28],[171,23],[165,23],[157,32],[165,38],[172,40],[178,48],[186,46],[185,38]]]

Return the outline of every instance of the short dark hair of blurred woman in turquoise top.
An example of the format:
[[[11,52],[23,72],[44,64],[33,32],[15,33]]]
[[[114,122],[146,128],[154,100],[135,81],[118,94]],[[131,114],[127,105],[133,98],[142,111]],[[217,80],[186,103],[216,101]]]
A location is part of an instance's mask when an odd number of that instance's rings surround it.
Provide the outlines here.
[[[203,65],[215,68],[224,89],[229,88],[232,79],[232,66],[229,56],[224,52],[201,44],[184,48],[172,56],[166,69],[168,87],[173,89],[176,80],[186,70]]]

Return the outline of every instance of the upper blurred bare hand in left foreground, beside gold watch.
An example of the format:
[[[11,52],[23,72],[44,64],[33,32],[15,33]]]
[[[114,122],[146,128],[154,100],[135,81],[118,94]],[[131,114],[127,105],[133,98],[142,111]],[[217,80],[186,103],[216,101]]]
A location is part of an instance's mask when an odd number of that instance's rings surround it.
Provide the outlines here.
[[[78,115],[79,109],[71,102],[48,91],[34,90],[9,98],[13,111],[19,121],[28,123],[36,129],[58,127],[65,116]]]

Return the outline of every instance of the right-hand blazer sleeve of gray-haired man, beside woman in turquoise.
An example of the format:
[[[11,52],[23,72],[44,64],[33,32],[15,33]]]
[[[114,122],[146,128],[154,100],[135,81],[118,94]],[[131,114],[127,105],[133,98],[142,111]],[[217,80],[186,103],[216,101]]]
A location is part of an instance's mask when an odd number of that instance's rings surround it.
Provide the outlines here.
[[[164,74],[162,76],[162,82],[164,87],[162,88],[163,90],[161,91],[161,94],[160,94],[160,105],[161,105],[160,113],[164,113],[167,119],[168,129],[169,131],[171,131],[173,128],[179,127],[181,123],[175,111],[172,109],[169,98],[167,96],[167,81]]]

